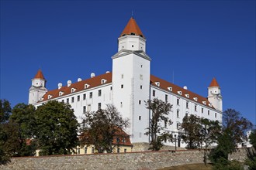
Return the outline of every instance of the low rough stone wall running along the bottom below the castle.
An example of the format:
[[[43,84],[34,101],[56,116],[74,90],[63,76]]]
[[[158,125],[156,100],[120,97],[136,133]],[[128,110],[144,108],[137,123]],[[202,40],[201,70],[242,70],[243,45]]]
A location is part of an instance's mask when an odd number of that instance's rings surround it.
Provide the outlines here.
[[[231,155],[232,159],[247,158],[246,148]],[[120,154],[60,155],[12,158],[0,169],[157,169],[173,165],[203,162],[203,151],[144,151]]]

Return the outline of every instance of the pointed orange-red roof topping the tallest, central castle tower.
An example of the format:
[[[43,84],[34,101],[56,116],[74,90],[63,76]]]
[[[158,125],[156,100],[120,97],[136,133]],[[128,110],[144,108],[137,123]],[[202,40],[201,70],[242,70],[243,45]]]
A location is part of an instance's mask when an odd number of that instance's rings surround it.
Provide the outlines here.
[[[126,27],[123,29],[123,32],[121,33],[120,37],[124,35],[136,35],[144,37],[143,33],[140,30],[140,27],[137,25],[137,22],[135,21],[135,19],[133,19],[133,17],[130,18]]]

